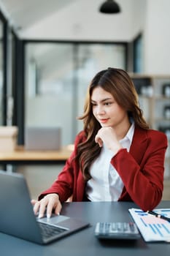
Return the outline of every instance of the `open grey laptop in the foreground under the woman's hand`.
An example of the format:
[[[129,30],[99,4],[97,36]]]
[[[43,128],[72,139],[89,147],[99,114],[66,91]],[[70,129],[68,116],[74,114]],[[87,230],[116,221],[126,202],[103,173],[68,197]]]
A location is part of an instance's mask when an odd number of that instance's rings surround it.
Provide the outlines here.
[[[0,207],[0,232],[36,244],[48,244],[89,225],[63,215],[38,219],[23,175],[3,170],[0,170]]]

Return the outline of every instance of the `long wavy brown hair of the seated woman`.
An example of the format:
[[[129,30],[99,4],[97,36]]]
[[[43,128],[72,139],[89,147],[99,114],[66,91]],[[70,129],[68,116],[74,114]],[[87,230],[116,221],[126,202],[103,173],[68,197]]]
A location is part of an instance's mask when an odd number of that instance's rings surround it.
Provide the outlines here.
[[[144,120],[142,110],[139,108],[138,95],[134,83],[128,73],[123,69],[111,67],[98,72],[88,87],[84,114],[79,118],[83,120],[84,123],[86,140],[78,145],[77,158],[79,159],[82,174],[86,181],[91,178],[89,172],[90,165],[101,151],[98,143],[94,140],[101,125],[93,116],[91,105],[91,95],[93,89],[97,86],[100,86],[102,89],[112,94],[117,104],[127,111],[129,118],[134,119],[136,126],[142,129],[149,129],[147,122]]]

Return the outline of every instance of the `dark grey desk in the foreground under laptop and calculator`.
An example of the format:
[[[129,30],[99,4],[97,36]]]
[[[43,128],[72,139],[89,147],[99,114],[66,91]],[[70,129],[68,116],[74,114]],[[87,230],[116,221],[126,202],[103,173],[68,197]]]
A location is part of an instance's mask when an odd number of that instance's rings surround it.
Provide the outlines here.
[[[98,241],[93,236],[94,225],[100,221],[129,221],[128,208],[134,203],[64,203],[62,214],[79,217],[90,222],[85,230],[62,238],[53,244],[39,246],[28,241],[0,233],[0,252],[2,256],[168,256],[170,244],[136,242]],[[158,208],[169,208],[170,201],[163,201]]]

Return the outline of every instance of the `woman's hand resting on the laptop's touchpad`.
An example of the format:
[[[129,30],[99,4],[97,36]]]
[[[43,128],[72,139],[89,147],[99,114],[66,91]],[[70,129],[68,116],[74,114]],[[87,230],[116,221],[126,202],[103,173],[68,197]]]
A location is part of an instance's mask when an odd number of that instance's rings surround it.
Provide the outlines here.
[[[61,212],[61,201],[57,194],[49,194],[42,198],[42,200],[31,200],[32,205],[34,206],[34,214],[39,213],[39,218],[44,217],[45,211],[47,211],[47,218],[51,217],[52,211],[55,211],[55,214],[59,215]]]

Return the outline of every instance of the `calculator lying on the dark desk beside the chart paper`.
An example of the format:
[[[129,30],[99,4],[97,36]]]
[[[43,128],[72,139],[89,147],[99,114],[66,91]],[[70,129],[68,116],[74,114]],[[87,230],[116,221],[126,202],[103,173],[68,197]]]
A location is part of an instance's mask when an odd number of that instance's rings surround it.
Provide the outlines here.
[[[130,239],[141,238],[134,222],[97,222],[95,236],[104,239]]]

